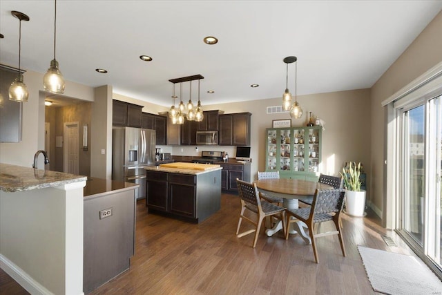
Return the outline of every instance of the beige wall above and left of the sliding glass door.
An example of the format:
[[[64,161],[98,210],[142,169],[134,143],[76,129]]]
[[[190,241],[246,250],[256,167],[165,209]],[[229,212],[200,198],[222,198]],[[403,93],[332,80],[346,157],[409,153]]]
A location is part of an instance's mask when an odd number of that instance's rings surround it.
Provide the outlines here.
[[[392,220],[387,220],[390,219],[392,211],[394,211],[392,198],[396,198],[396,196],[387,195],[385,191],[386,166],[384,161],[387,160],[385,151],[387,122],[385,122],[386,110],[381,106],[381,102],[442,61],[441,32],[442,12],[439,12],[372,87],[372,117],[370,119],[372,124],[372,174],[369,175],[369,178],[372,179],[371,189],[374,205],[383,210],[383,225],[388,228],[392,226]],[[390,204],[390,208],[384,208],[387,204]]]

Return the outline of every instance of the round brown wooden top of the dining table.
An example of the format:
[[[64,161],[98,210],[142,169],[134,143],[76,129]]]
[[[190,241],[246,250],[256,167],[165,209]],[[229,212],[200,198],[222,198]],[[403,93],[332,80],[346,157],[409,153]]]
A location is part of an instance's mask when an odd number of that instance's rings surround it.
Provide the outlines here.
[[[282,193],[291,196],[314,196],[316,189],[333,189],[328,184],[309,180],[280,178],[256,180],[256,187],[273,193]]]

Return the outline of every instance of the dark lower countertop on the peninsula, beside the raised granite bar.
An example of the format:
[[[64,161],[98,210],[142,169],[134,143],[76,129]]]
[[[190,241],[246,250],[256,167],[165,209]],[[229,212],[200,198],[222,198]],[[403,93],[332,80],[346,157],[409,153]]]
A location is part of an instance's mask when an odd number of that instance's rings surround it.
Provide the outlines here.
[[[86,181],[86,187],[83,189],[83,196],[104,196],[112,191],[136,189],[137,187],[140,187],[140,184],[118,180],[106,180],[102,178],[88,178],[88,181]]]

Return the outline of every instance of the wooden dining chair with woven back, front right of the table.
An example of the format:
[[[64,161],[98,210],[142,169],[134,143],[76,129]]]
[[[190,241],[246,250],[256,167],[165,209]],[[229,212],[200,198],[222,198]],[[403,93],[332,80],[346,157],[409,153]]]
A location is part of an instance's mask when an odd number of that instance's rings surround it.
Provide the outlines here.
[[[318,251],[316,251],[316,241],[315,238],[329,235],[338,235],[340,242],[340,249],[343,251],[343,256],[345,257],[345,247],[343,234],[339,226],[340,213],[343,209],[345,197],[344,189],[327,189],[319,191],[316,189],[313,204],[311,207],[300,208],[300,209],[287,209],[287,228],[290,222],[297,222],[298,220],[304,222],[309,228],[309,236],[311,238],[311,247],[313,248],[313,253],[315,256],[316,263],[319,263]],[[291,219],[293,216],[296,219]],[[328,231],[325,233],[314,234],[314,225],[320,224],[320,222],[325,222],[333,220],[336,227],[336,231]],[[289,238],[289,231],[285,231],[285,239]]]

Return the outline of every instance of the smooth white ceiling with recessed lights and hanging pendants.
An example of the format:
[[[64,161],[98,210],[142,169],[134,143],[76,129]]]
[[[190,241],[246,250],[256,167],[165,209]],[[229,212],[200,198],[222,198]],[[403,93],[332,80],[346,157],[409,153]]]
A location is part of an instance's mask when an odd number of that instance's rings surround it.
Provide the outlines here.
[[[19,21],[11,10],[30,17],[21,23],[21,67],[45,73],[54,1],[0,0],[0,63],[17,67]],[[56,57],[69,81],[110,84],[114,93],[162,106],[172,102],[169,79],[197,74],[204,76],[203,106],[281,97],[282,59],[291,55],[298,57],[298,95],[345,91],[371,87],[441,10],[442,1],[421,0],[59,0]],[[218,44],[204,44],[206,36]],[[288,88],[295,92],[295,64]],[[198,83],[192,91],[198,100]]]

